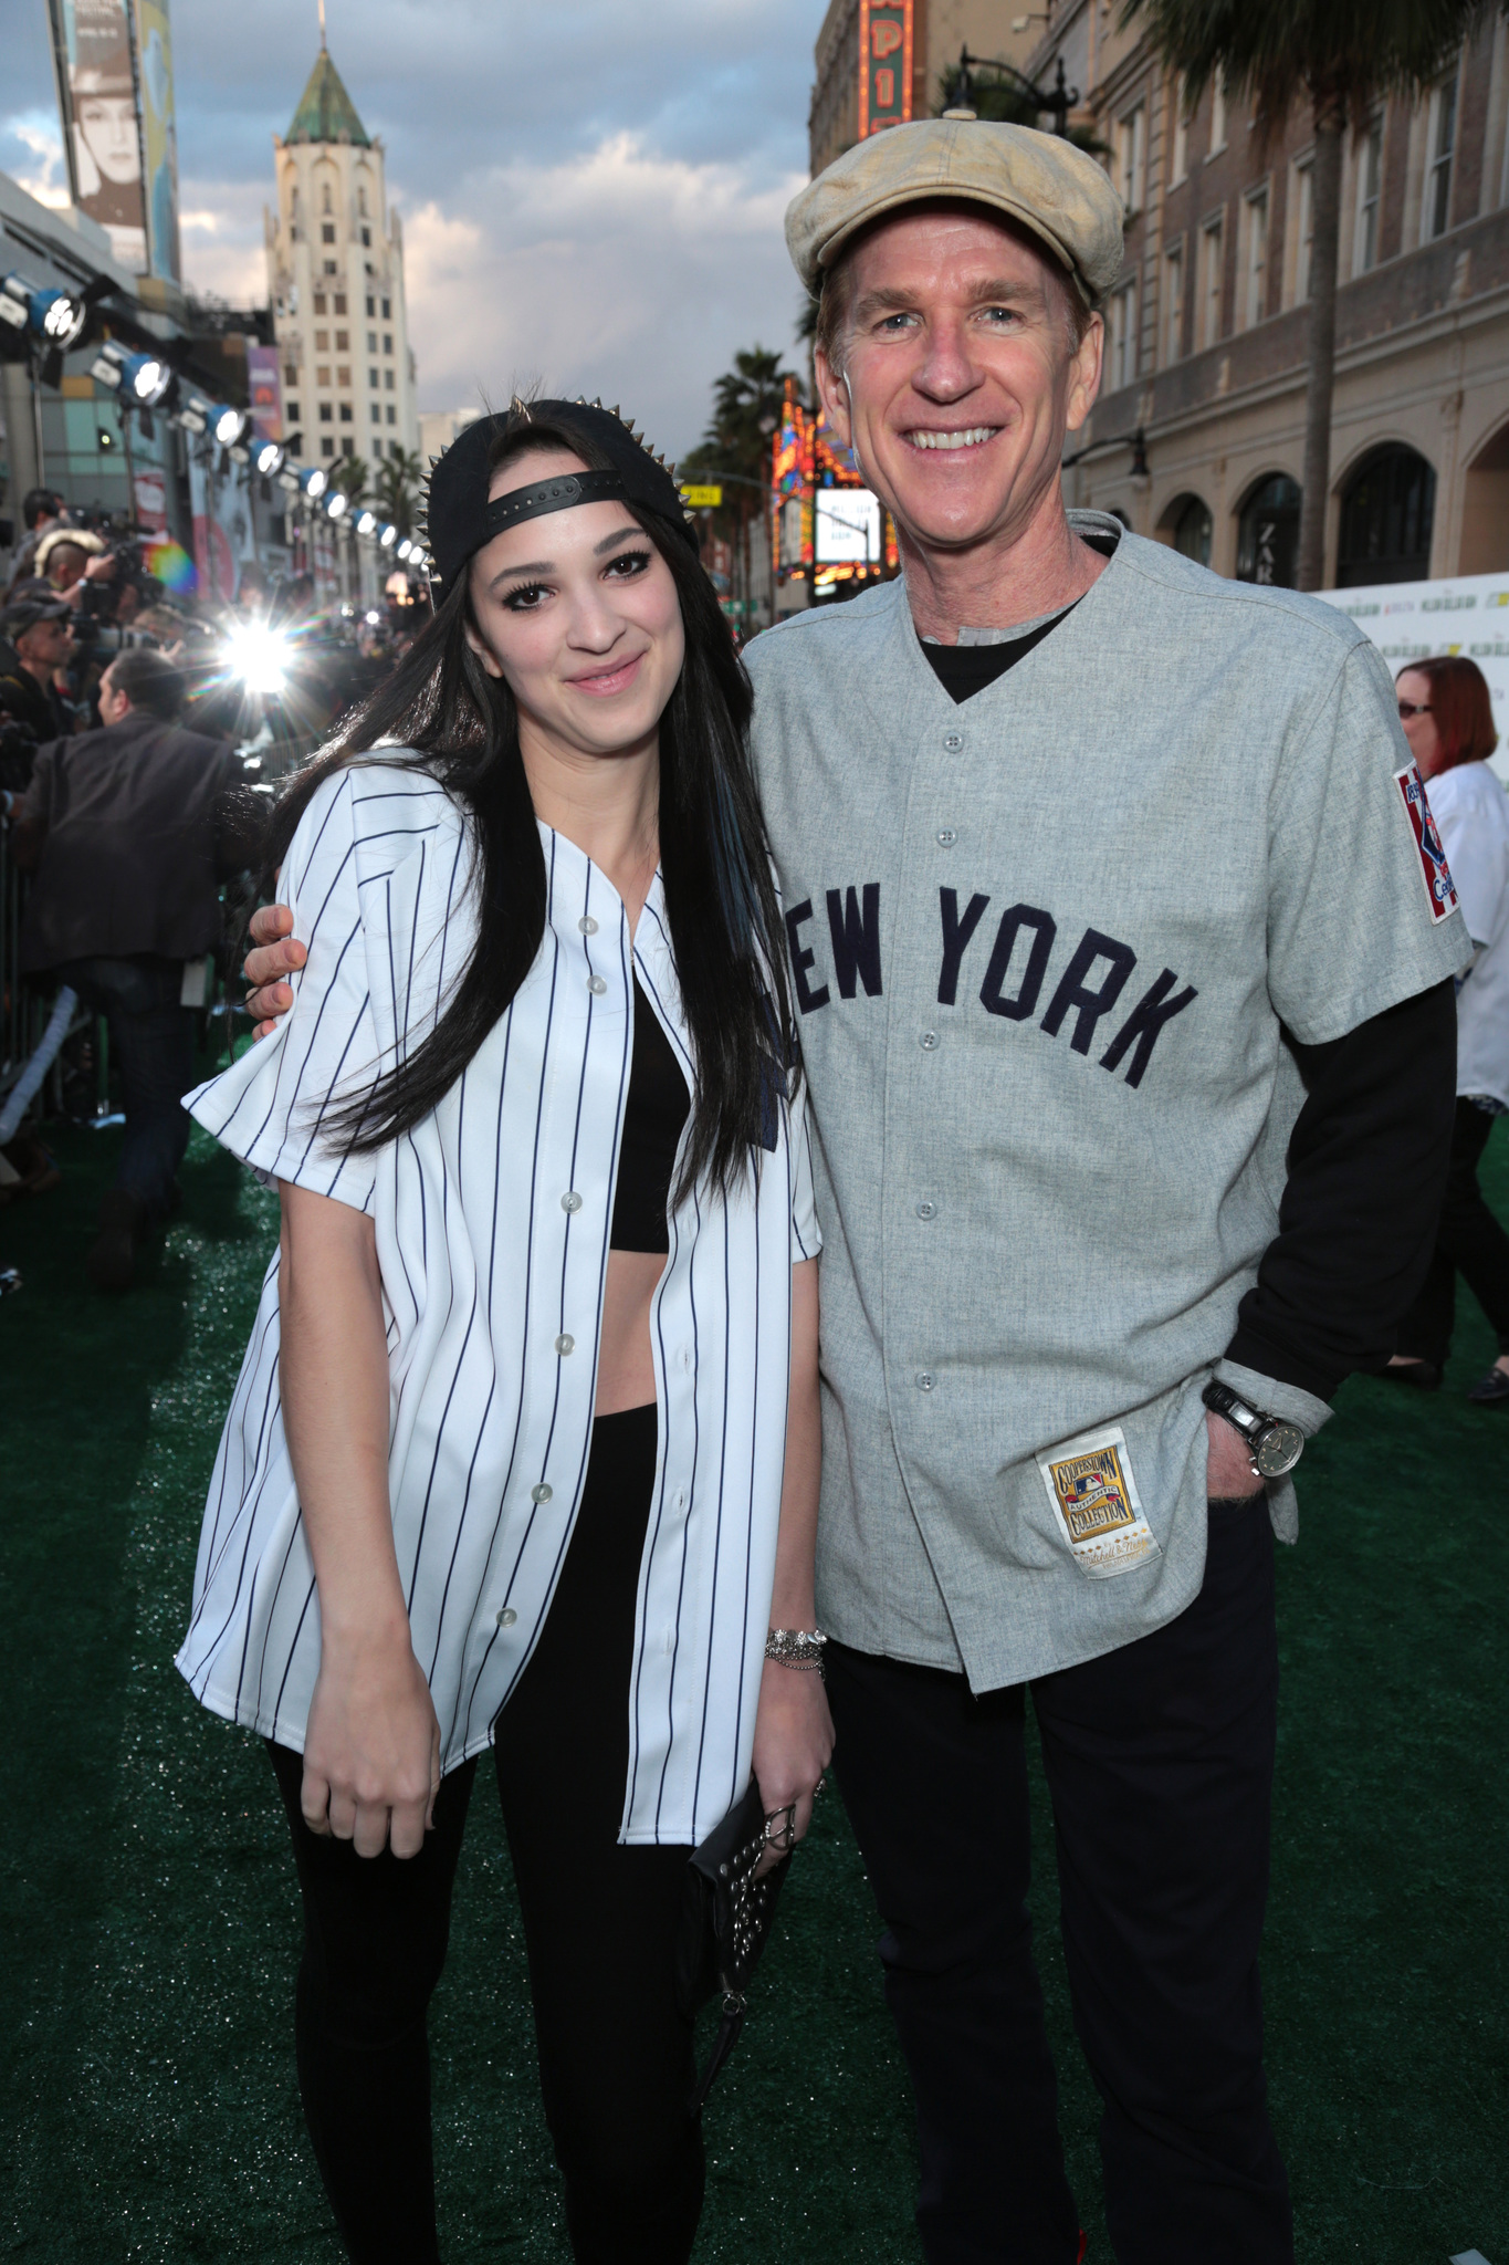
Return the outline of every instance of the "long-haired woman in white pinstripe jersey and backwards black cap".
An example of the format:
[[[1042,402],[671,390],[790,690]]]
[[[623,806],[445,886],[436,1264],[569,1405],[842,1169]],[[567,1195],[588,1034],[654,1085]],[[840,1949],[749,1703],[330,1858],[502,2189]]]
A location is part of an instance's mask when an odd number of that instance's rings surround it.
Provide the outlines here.
[[[688,1853],[751,1767],[801,1837],[833,1746],[767,1658],[812,1631],[819,1237],[749,686],[602,408],[471,426],[430,548],[434,623],[281,811],[294,1010],[192,1096],[283,1234],[179,1665],[271,1749],[357,2265],[439,2256],[425,2007],[489,1742],[575,2254],[674,2265]]]

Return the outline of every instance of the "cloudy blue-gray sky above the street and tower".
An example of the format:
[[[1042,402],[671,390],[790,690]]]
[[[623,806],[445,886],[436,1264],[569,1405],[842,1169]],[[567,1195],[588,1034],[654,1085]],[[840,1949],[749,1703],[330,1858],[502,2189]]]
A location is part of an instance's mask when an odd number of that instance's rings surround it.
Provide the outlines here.
[[[545,378],[683,453],[738,347],[792,351],[781,215],[805,179],[824,0],[328,0],[330,57],[405,231],[425,410]],[[183,265],[267,297],[262,204],[314,0],[172,0]],[[45,0],[7,0],[0,170],[66,193]]]

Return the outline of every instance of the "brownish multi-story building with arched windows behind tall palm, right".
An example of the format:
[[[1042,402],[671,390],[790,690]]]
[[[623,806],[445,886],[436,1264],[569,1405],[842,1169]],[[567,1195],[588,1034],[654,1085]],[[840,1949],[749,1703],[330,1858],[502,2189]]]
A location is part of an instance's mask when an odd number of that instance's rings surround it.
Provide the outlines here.
[[[1292,582],[1310,118],[1262,147],[1219,88],[1185,116],[1115,0],[1047,5],[1027,68],[1063,57],[1088,91],[1129,208],[1068,496],[1217,573]],[[1509,566],[1507,113],[1509,25],[1484,16],[1423,100],[1348,134],[1326,587]]]

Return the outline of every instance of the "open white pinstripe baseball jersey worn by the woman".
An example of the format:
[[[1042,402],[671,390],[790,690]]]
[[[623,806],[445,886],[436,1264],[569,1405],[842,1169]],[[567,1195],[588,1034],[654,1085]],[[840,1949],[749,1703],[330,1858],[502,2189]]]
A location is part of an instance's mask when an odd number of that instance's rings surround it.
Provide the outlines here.
[[[430,777],[364,763],[328,779],[283,865],[310,947],[294,1008],[188,1096],[253,1169],[373,1219],[394,1540],[446,1769],[489,1742],[581,1499],[636,972],[690,1083],[658,874],[631,940],[590,858],[547,827],[541,840],[547,924],[514,1003],[432,1117],[376,1155],[333,1153],[321,1110],[432,1026],[475,913],[466,820]],[[801,1096],[771,1110],[769,1144],[758,1185],[676,1205],[654,1296],[661,1443],[624,1694],[627,1841],[697,1841],[749,1783],[792,1266],[819,1248]],[[276,1255],[179,1667],[215,1712],[303,1746],[319,1599],[278,1407]]]

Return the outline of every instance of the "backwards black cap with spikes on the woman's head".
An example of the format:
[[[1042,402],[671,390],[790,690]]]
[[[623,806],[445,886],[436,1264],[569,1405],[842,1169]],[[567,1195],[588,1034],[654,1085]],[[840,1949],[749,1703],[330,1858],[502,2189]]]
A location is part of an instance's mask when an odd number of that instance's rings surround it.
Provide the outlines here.
[[[489,503],[486,467],[495,442],[532,424],[579,433],[581,439],[597,444],[611,469],[554,473]],[[649,453],[645,437],[620,410],[604,410],[602,401],[514,401],[507,412],[477,417],[430,467],[423,537],[437,580],[450,589],[462,566],[491,544],[493,535],[523,519],[572,510],[577,503],[633,503],[645,512],[658,512],[692,553],[699,548],[674,467]]]

